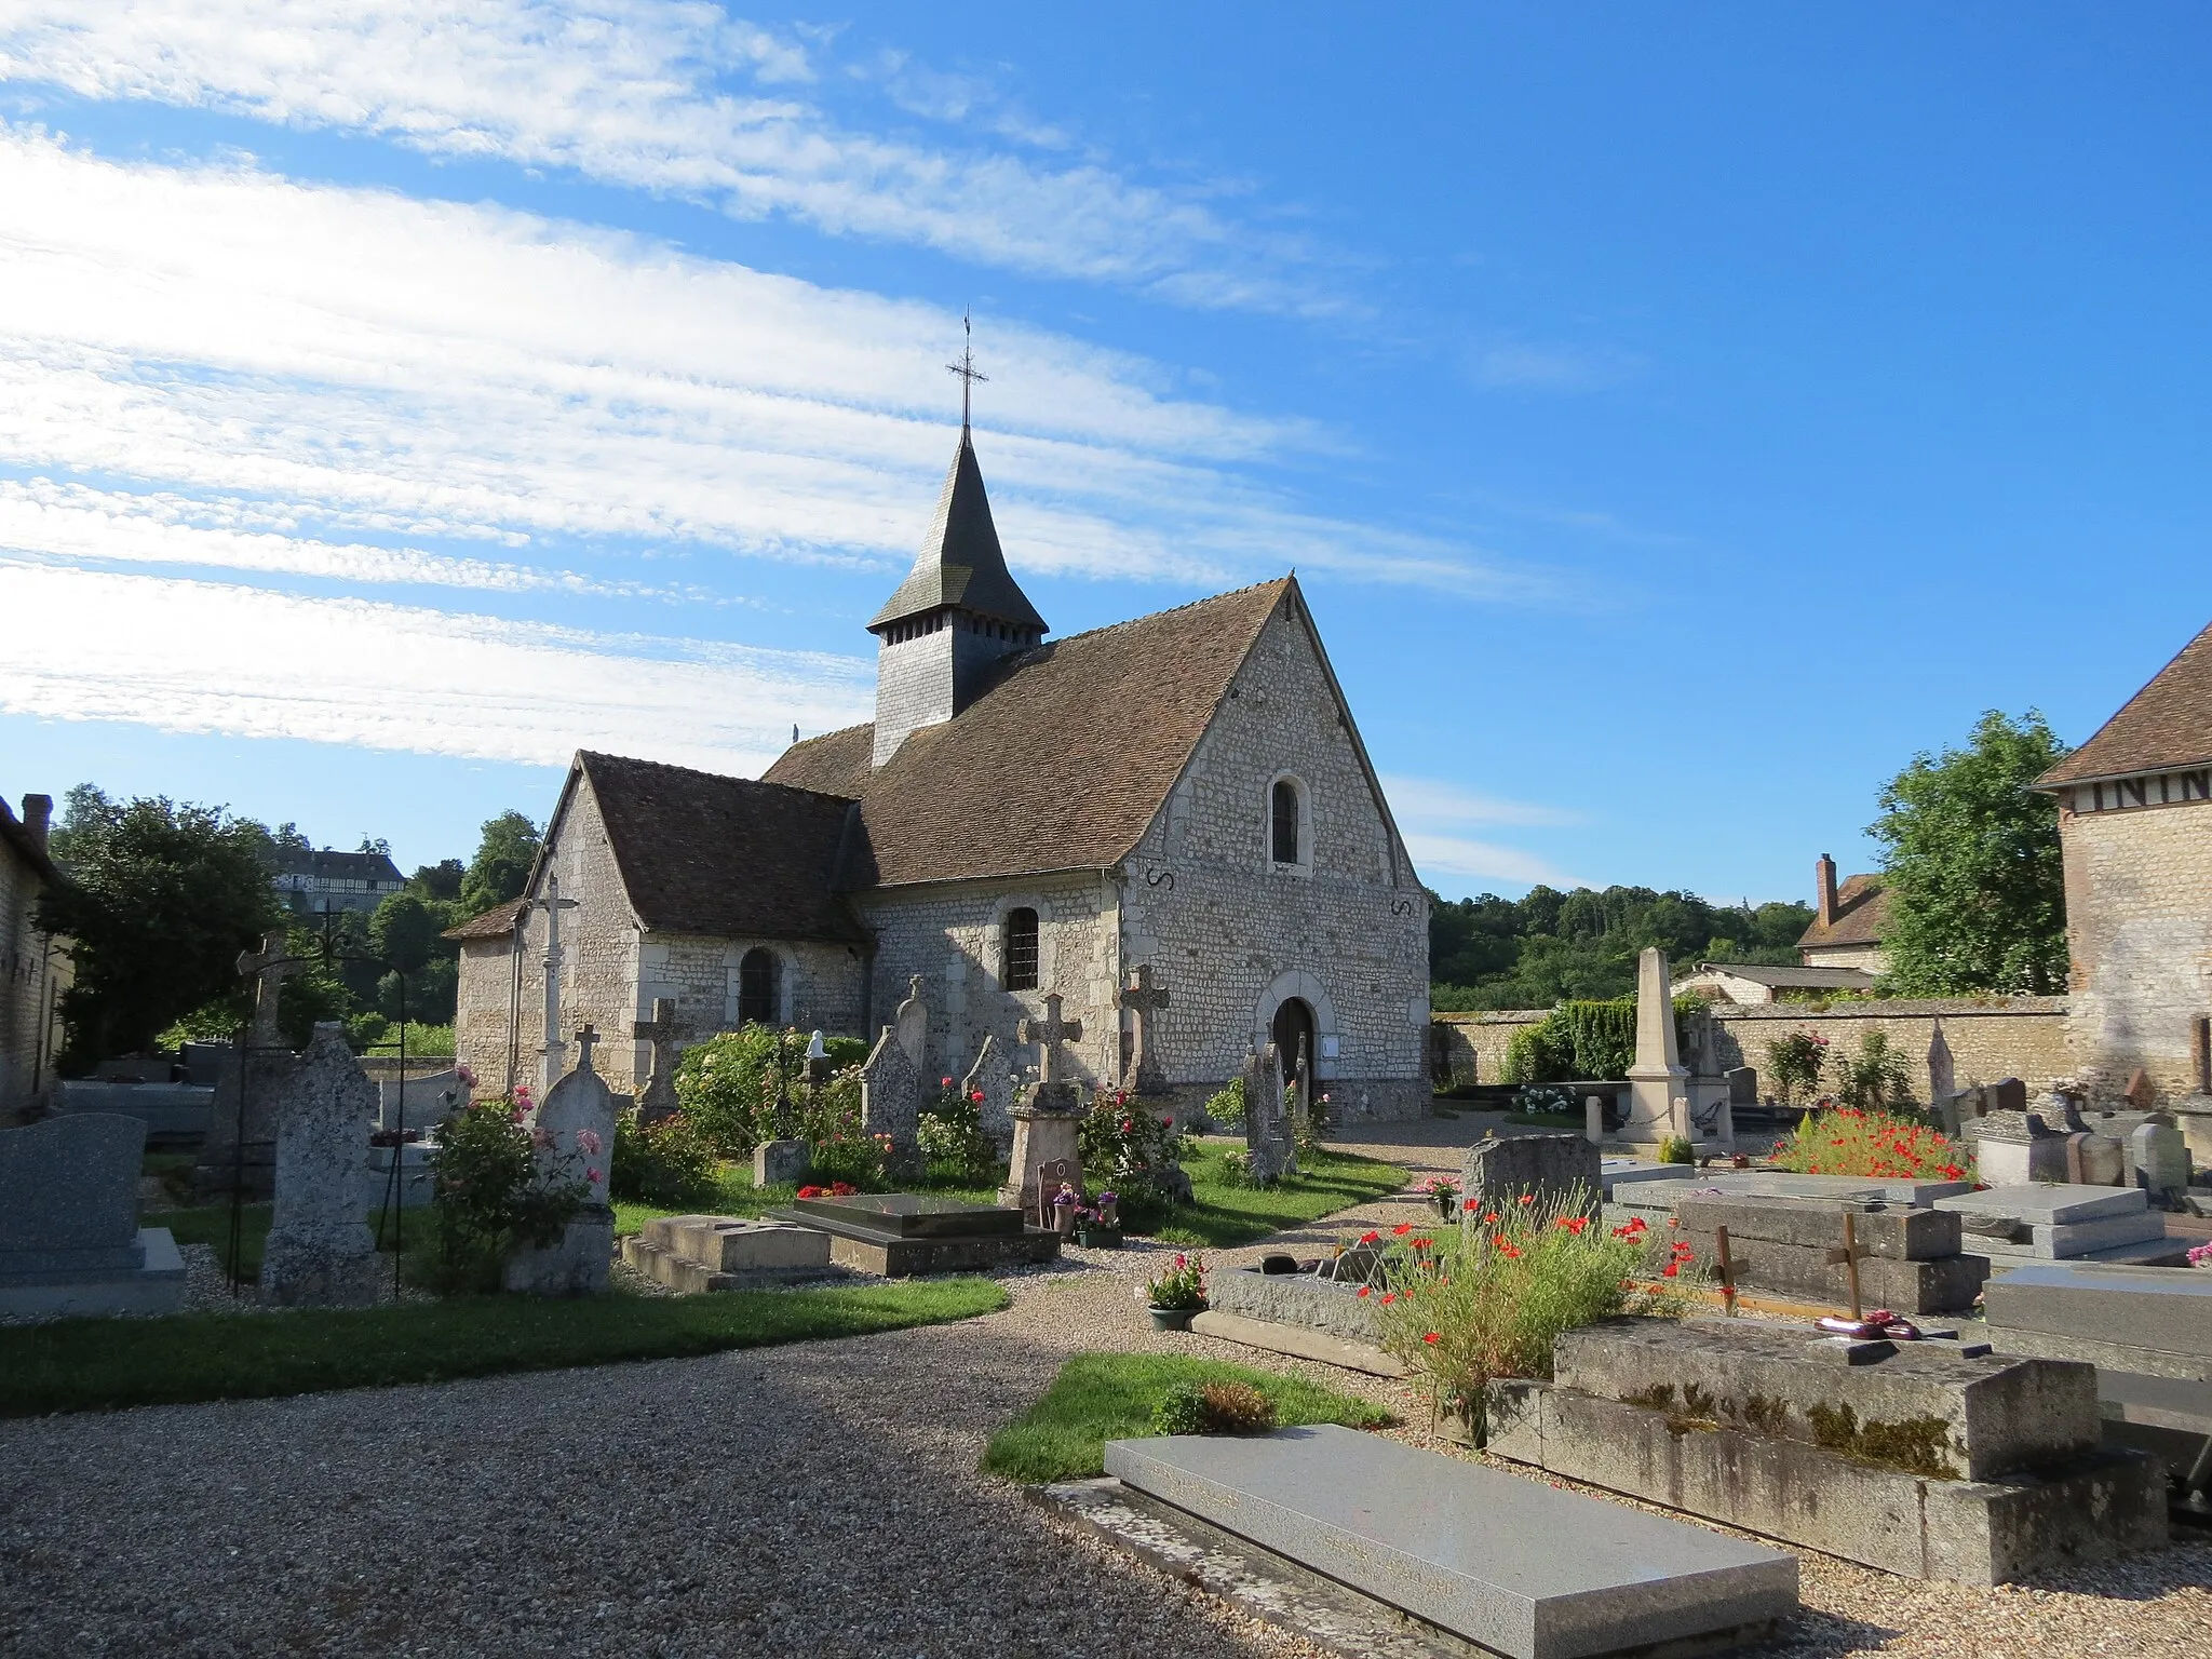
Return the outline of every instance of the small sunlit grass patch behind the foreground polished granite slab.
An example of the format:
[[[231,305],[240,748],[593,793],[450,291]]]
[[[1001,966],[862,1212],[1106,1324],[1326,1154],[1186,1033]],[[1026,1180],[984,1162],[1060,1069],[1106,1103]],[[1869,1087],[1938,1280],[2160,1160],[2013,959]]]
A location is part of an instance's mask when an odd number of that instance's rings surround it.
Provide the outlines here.
[[[1053,1387],[995,1436],[982,1467],[1011,1480],[1079,1480],[1106,1473],[1106,1442],[1152,1433],[1152,1407],[1177,1383],[1250,1383],[1274,1400],[1276,1420],[1371,1429],[1389,1411],[1296,1376],[1179,1354],[1077,1354]]]

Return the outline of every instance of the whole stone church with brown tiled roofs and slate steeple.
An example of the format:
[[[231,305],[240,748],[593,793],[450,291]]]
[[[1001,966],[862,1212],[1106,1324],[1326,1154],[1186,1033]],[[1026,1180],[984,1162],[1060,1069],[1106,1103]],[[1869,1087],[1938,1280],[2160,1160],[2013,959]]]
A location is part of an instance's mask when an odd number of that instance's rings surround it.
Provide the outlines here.
[[[546,898],[562,1037],[765,1020],[874,1037],[916,987],[925,1075],[1018,1064],[1044,995],[1075,1082],[1148,1046],[1181,1106],[1270,1037],[1345,1117],[1429,1108],[1429,907],[1296,577],[1048,639],[1000,551],[969,429],[914,571],[867,624],[876,719],[759,781],[582,752],[526,896],[458,929],[456,1046],[535,1082]],[[571,907],[573,905],[573,907]],[[641,1088],[644,1042],[602,1071]]]

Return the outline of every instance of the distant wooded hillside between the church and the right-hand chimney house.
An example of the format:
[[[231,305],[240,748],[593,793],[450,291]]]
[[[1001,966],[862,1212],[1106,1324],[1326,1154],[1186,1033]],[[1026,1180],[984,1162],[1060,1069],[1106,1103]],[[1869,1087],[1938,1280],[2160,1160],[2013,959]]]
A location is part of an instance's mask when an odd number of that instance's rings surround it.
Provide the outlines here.
[[[1809,905],[1712,905],[1650,887],[1531,887],[1526,898],[1429,896],[1429,978],[1438,1009],[1548,1009],[1628,995],[1637,953],[1681,962],[1796,962]]]

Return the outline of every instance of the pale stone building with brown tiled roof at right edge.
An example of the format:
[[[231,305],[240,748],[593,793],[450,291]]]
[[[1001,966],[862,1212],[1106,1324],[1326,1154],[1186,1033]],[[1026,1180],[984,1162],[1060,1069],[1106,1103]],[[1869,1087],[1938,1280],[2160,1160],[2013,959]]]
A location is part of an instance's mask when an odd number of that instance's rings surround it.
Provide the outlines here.
[[[2212,628],[2042,779],[2066,856],[2068,1046],[2110,1097],[2212,1093]]]

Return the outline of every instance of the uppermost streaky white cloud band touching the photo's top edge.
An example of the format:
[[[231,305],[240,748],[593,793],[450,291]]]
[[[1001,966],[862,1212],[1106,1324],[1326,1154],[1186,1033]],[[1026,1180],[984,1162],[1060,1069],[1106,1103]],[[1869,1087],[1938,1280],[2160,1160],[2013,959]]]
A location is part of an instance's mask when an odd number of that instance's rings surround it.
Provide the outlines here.
[[[341,128],[434,157],[573,168],[1190,305],[1334,310],[1310,250],[1099,161],[927,148],[841,126],[787,35],[684,0],[0,0],[0,77]],[[967,77],[876,62],[907,111],[1064,144]],[[1292,272],[1292,274],[1285,274]]]

